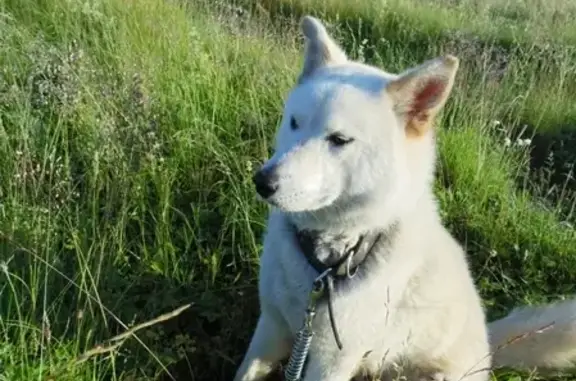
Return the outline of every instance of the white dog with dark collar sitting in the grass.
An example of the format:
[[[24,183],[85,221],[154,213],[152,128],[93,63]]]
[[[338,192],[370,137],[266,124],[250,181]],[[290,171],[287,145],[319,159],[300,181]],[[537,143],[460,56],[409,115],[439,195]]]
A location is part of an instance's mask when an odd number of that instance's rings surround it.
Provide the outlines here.
[[[576,302],[526,307],[487,326],[465,253],[440,221],[433,122],[458,60],[389,74],[349,60],[319,20],[301,26],[303,70],[275,153],[254,176],[274,208],[261,315],[235,380],[263,380],[289,356],[322,266],[349,275],[334,280],[332,295],[342,348],[324,299],[304,381],[389,377],[394,364],[413,369],[412,379],[450,381],[485,381],[496,366],[572,365]]]

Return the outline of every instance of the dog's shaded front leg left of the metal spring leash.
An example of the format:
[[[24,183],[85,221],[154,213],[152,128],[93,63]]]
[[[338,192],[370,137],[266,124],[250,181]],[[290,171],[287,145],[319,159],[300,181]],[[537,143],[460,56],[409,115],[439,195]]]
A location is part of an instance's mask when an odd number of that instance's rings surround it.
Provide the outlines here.
[[[285,323],[263,311],[234,381],[264,380],[290,354],[291,338]]]

